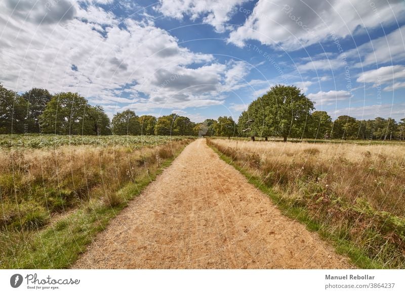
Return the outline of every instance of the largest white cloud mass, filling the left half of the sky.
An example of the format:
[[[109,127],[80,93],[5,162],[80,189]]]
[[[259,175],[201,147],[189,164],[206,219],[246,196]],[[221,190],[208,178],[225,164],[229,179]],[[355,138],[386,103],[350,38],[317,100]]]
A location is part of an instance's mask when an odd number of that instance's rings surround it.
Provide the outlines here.
[[[244,62],[219,64],[150,22],[127,19],[118,26],[121,20],[99,7],[73,8],[72,18],[41,24],[0,4],[0,78],[6,87],[79,92],[112,112],[222,105],[223,92],[246,84],[250,67]]]

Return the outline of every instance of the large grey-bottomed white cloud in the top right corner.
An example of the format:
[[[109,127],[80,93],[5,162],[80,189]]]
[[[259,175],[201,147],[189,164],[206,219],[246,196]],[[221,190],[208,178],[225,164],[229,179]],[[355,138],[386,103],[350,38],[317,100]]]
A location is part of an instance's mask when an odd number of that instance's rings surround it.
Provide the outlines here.
[[[359,28],[377,28],[405,16],[401,1],[375,0],[373,4],[376,10],[364,0],[259,0],[244,26],[233,31],[228,41],[243,46],[253,39],[291,51],[331,39],[332,34],[344,38]]]

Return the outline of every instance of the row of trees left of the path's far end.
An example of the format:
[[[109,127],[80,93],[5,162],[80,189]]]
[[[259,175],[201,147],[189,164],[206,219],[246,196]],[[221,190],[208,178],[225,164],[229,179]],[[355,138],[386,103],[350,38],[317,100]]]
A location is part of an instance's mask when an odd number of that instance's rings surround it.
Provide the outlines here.
[[[51,95],[32,88],[19,95],[0,84],[0,134],[197,135],[196,126],[188,117],[137,116],[132,110],[118,112],[110,121],[101,106],[91,106],[78,93]]]

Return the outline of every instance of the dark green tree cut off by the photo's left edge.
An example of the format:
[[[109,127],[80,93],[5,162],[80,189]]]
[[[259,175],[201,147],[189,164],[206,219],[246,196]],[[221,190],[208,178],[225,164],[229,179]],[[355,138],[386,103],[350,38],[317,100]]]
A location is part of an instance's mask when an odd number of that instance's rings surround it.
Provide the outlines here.
[[[0,133],[22,133],[27,103],[21,96],[0,84]]]

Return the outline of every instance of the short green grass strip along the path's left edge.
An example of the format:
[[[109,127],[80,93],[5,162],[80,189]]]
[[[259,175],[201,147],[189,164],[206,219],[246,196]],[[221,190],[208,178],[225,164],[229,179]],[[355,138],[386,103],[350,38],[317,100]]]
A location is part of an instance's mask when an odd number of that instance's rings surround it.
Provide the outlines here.
[[[183,147],[184,148],[184,147]],[[106,228],[109,221],[128,206],[156,176],[168,167],[181,151],[164,160],[160,167],[149,174],[140,175],[116,194],[120,203],[106,205],[101,200],[91,200],[43,230],[6,230],[0,232],[0,268],[69,268],[86,251],[96,234]],[[37,222],[30,217],[30,225]]]

